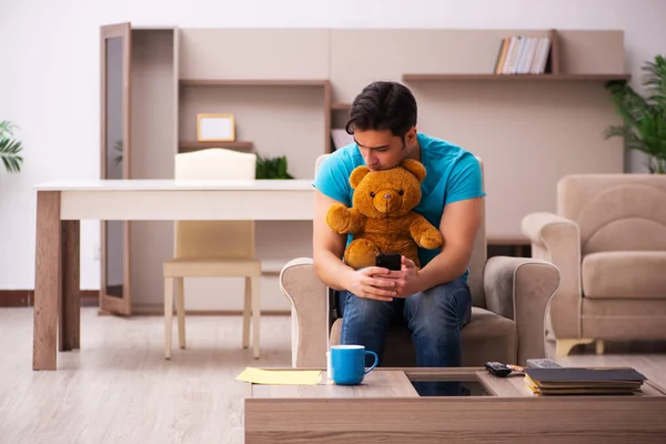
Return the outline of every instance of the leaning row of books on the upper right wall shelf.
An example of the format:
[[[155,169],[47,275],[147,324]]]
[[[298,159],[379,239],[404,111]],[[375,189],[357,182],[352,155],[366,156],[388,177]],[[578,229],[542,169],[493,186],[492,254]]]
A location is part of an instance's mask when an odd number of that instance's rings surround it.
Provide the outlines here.
[[[543,74],[551,53],[551,38],[511,36],[502,39],[495,74]]]

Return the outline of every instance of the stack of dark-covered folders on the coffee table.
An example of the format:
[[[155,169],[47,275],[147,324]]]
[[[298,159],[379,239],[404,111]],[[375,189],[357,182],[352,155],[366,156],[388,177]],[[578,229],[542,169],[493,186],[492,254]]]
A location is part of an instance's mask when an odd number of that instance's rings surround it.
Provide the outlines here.
[[[634,369],[525,369],[525,387],[542,395],[632,395],[644,375]]]

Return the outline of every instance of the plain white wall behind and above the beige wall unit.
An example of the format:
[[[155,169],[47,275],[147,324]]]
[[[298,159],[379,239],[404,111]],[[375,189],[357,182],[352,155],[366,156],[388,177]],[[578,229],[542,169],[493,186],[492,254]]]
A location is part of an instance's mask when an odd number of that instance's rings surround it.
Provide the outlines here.
[[[0,168],[0,289],[34,286],[36,183],[99,176],[99,27],[622,29],[627,70],[664,52],[664,0],[22,0],[3,2],[0,120],[20,125],[19,175]],[[575,143],[575,141],[572,141]],[[627,171],[644,171],[629,155]],[[81,287],[99,287],[99,223],[81,225]]]

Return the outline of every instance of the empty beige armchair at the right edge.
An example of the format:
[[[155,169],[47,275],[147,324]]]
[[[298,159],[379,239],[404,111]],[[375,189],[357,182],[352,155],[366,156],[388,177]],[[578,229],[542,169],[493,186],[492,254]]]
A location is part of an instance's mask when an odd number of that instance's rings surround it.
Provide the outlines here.
[[[562,283],[547,313],[556,354],[578,344],[666,340],[666,176],[577,174],[557,184],[557,214],[523,220],[535,259]]]

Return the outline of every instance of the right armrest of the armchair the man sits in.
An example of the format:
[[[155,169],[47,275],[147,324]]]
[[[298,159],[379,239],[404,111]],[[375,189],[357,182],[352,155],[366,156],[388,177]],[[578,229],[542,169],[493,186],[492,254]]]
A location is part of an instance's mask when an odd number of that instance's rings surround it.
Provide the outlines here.
[[[514,320],[518,333],[518,365],[545,357],[546,307],[559,286],[559,270],[528,258],[488,259],[483,279],[486,307]]]

